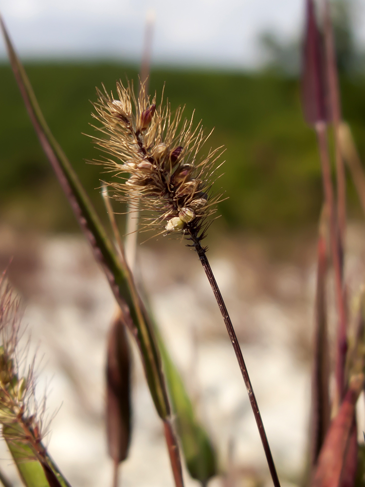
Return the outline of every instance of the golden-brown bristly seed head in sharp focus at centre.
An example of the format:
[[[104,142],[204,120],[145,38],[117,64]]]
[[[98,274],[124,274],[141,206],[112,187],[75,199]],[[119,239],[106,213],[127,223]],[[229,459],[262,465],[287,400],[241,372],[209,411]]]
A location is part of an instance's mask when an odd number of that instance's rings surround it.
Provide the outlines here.
[[[211,190],[221,147],[202,157],[210,134],[203,134],[201,124],[193,128],[193,117],[182,121],[183,109],[172,115],[169,104],[156,107],[156,94],[150,100],[144,87],[138,100],[129,83],[126,88],[117,82],[118,100],[105,88],[97,92],[93,116],[107,137],[93,140],[113,159],[96,162],[125,180],[108,183],[114,197],[145,210],[142,230],[154,227],[201,240],[221,198]]]

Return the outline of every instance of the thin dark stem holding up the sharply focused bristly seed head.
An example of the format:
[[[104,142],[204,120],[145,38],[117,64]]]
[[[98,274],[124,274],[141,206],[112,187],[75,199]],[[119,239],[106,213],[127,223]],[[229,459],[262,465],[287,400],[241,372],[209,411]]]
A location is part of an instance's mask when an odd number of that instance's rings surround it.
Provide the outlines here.
[[[240,348],[238,340],[237,340],[235,329],[233,328],[231,318],[229,317],[229,314],[228,314],[226,305],[224,303],[223,297],[220,293],[217,281],[214,277],[213,271],[212,271],[210,264],[208,262],[208,259],[206,257],[205,249],[201,246],[197,236],[192,231],[189,230],[189,234],[190,234],[191,240],[194,244],[195,250],[198,254],[198,257],[201,261],[201,265],[203,266],[205,274],[206,274],[208,281],[212,287],[214,296],[216,297],[216,300],[217,300],[217,303],[218,303],[218,306],[220,309],[220,313],[222,314],[224,323],[227,327],[228,335],[231,339],[232,346],[233,346],[233,349],[235,351],[237,361],[239,364],[239,368],[241,369],[242,377],[243,377],[243,380],[244,380],[245,385],[246,385],[246,389],[247,389],[247,393],[248,393],[248,396],[250,399],[251,407],[252,407],[252,410],[254,412],[257,428],[258,428],[258,431],[259,431],[259,434],[261,437],[262,445],[263,445],[264,450],[265,450],[266,460],[267,460],[267,463],[268,463],[268,466],[270,469],[270,473],[271,473],[271,477],[272,477],[273,482],[274,482],[274,486],[280,487],[279,478],[277,476],[276,468],[274,465],[273,455],[272,455],[271,450],[270,450],[270,446],[269,446],[269,442],[268,442],[268,439],[267,439],[267,436],[265,433],[265,428],[264,428],[264,425],[262,422],[261,414],[260,414],[260,411],[258,409],[256,396],[255,396],[254,390],[252,388],[251,380],[250,380],[250,377],[249,377],[248,372],[247,372],[246,364],[245,364],[245,361],[243,359],[242,351],[241,351],[241,348]]]

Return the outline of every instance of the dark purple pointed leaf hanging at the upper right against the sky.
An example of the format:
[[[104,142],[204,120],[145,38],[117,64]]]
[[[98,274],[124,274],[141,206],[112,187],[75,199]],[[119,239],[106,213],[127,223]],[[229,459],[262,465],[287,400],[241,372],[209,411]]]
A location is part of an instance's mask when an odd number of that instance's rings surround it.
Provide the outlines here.
[[[307,21],[303,49],[302,107],[306,122],[325,121],[326,98],[322,38],[317,27],[313,0],[306,1]]]

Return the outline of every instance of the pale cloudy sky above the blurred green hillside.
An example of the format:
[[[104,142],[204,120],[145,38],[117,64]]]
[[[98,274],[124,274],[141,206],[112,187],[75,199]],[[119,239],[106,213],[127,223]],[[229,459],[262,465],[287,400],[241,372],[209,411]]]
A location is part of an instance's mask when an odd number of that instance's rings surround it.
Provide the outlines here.
[[[365,0],[354,2],[365,44]],[[24,57],[138,61],[153,12],[153,62],[255,67],[260,33],[298,36],[304,0],[0,0],[0,12]]]

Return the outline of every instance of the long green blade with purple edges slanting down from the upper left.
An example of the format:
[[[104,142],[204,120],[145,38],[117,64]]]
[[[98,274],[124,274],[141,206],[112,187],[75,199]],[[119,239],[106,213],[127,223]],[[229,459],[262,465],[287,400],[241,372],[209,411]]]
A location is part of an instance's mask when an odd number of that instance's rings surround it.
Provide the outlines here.
[[[138,298],[138,294],[135,292],[133,280],[130,275],[128,276],[124,272],[88,195],[78,180],[68,158],[47,126],[32,86],[14,50],[1,17],[0,26],[18,87],[37,132],[39,142],[55,170],[81,229],[91,244],[95,259],[101,263],[105,271],[114,296],[137,341],[154,404],[160,417],[165,418],[169,414],[169,404],[164,386],[160,356],[149,318]]]

